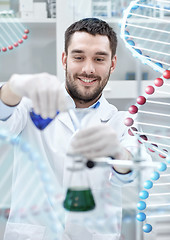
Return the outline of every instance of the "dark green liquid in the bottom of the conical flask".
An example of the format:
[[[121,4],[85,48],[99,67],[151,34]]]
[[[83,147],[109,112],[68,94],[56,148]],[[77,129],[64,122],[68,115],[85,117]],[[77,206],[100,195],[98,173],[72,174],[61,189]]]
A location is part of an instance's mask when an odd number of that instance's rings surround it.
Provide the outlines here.
[[[72,189],[67,190],[64,200],[64,208],[73,212],[84,212],[95,208],[94,198],[91,189]]]

